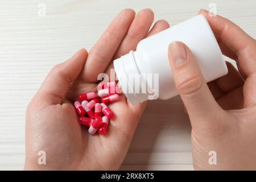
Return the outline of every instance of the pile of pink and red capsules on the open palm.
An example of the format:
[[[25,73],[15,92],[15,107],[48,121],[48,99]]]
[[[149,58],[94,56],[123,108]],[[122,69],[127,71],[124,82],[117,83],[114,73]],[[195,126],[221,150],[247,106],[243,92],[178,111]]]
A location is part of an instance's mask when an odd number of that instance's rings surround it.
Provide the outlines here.
[[[80,115],[80,125],[89,126],[90,134],[105,135],[108,131],[109,120],[114,113],[106,104],[119,100],[121,90],[115,82],[105,82],[98,85],[98,92],[89,92],[79,95],[79,101],[74,103]],[[102,117],[102,113],[104,116]]]

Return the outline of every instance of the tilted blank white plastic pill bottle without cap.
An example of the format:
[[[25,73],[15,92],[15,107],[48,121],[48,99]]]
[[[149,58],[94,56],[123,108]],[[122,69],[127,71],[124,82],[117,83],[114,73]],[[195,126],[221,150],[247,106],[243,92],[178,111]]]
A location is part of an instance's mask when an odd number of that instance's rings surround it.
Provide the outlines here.
[[[141,40],[137,51],[130,51],[114,60],[119,86],[131,104],[177,96],[168,60],[168,46],[173,41],[183,42],[191,49],[205,81],[212,81],[228,73],[207,19],[204,15],[197,15]],[[154,82],[152,79],[155,79]]]

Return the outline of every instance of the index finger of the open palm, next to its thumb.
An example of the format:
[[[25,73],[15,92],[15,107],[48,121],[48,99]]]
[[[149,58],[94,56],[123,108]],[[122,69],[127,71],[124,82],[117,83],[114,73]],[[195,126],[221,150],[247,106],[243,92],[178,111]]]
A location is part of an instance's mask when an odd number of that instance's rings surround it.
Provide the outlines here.
[[[113,20],[101,38],[89,52],[81,78],[86,82],[96,82],[99,73],[105,71],[122,42],[135,13],[131,9],[123,10]]]

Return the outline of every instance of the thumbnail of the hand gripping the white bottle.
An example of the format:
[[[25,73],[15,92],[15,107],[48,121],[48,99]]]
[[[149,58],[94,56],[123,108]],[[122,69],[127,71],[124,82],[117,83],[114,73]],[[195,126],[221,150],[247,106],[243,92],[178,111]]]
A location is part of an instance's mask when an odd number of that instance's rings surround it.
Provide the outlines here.
[[[187,51],[181,42],[172,42],[169,46],[171,61],[175,67],[179,67],[187,60]]]

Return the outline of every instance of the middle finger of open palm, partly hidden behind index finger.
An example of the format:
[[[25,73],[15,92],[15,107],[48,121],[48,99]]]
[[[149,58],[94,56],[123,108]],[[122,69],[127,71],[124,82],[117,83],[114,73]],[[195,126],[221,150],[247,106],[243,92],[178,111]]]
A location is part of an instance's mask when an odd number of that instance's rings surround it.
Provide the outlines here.
[[[120,44],[117,52],[115,53],[113,59],[125,55],[131,50],[135,50],[137,44],[140,40],[144,39],[150,29],[150,26],[154,20],[154,13],[150,9],[144,9],[139,11],[139,13],[134,18],[127,35]],[[105,73],[110,76],[110,69],[113,69],[113,63],[109,65]],[[112,81],[112,80],[111,80]]]

